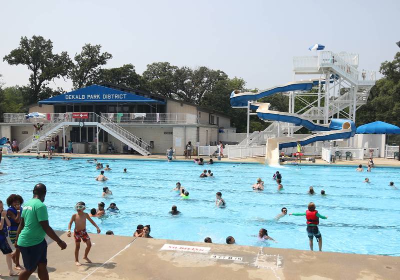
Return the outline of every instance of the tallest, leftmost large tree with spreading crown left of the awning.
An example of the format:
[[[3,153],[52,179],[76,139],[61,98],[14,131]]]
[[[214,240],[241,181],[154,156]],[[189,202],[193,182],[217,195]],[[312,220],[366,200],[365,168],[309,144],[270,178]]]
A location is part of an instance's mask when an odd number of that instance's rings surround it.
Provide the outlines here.
[[[53,44],[41,36],[21,37],[19,47],[4,56],[9,65],[26,65],[31,71],[29,102],[37,102],[40,92],[54,78],[66,77],[71,60],[66,52],[53,54]],[[49,96],[46,96],[49,97]]]

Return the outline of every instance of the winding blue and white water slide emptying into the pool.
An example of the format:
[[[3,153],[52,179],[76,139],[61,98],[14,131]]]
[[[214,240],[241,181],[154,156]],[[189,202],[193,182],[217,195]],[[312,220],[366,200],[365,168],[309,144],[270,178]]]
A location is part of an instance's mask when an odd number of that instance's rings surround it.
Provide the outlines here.
[[[336,77],[330,77],[329,82],[335,78]],[[318,81],[318,79],[316,79],[316,81]],[[256,100],[280,92],[310,90],[313,85],[315,85],[315,80],[291,82],[285,85],[261,90],[256,93],[240,93],[239,91],[233,91],[230,95],[230,104],[232,107],[247,106],[247,101]],[[316,141],[346,139],[353,137],[355,134],[355,124],[351,120],[332,119],[329,124],[317,124],[301,115],[270,111],[269,103],[253,102],[251,103],[250,108],[256,110],[257,116],[262,120],[292,123],[298,126],[304,126],[312,132],[318,132],[302,139],[295,139],[293,137],[267,139],[265,163],[268,165],[278,165],[279,150],[283,148],[296,147],[297,140],[300,141],[302,146],[304,146]]]

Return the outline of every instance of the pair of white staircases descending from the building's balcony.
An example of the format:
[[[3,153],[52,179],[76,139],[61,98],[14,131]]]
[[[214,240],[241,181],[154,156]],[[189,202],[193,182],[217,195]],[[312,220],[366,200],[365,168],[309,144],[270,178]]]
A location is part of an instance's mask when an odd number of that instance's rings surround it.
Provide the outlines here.
[[[54,137],[63,128],[65,129],[65,127],[68,127],[69,125],[78,125],[79,122],[83,121],[86,125],[98,126],[100,129],[106,131],[108,134],[120,140],[122,143],[137,151],[141,155],[147,156],[151,154],[151,146],[149,144],[116,123],[107,118],[99,116],[96,113],[88,113],[88,116],[85,119],[72,118],[72,113],[50,115],[52,116],[51,119],[48,123],[43,125],[37,139],[35,139],[33,135],[32,137],[28,137],[19,143],[20,152],[26,152],[28,150],[30,152],[37,152],[39,144],[45,139]]]

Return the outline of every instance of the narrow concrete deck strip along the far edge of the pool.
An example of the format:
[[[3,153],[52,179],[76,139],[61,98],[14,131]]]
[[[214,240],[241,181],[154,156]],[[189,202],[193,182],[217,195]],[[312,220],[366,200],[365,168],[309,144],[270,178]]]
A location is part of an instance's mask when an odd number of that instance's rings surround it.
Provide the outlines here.
[[[40,153],[42,155],[43,153]],[[13,154],[3,154],[3,157],[18,157],[18,156],[30,156],[34,157],[34,154],[29,154],[29,153],[13,153]],[[59,158],[59,157],[71,157],[71,158],[82,158],[82,159],[89,159],[89,158],[97,158],[97,159],[122,159],[122,160],[129,160],[129,159],[141,159],[141,160],[166,160],[165,155],[150,155],[150,156],[141,156],[141,155],[132,155],[132,154],[56,154],[54,158]],[[203,157],[205,161],[208,161],[209,157],[206,156],[192,156],[191,161],[193,161],[194,158],[196,157]],[[185,160],[184,156],[176,156],[176,159],[178,161],[190,161],[190,160]],[[221,158],[221,161],[218,161],[216,158],[213,158],[215,163],[218,162],[230,162],[230,163],[258,163],[258,164],[264,164],[264,157],[254,157],[254,158],[242,158],[242,159],[235,159],[235,160],[228,160],[226,157]],[[283,163],[282,165],[290,165],[292,161],[288,161]],[[375,167],[400,167],[400,161],[397,159],[392,159],[392,158],[374,158],[373,162],[375,164]],[[302,160],[301,165],[328,165],[328,166],[340,166],[340,165],[351,165],[356,168],[359,164],[362,164],[362,166],[366,167],[366,164],[368,163],[368,158],[365,158],[363,160],[337,160],[335,163],[327,163],[326,161],[323,161],[321,159],[315,159],[315,163],[309,162]],[[366,170],[365,170],[366,171]]]

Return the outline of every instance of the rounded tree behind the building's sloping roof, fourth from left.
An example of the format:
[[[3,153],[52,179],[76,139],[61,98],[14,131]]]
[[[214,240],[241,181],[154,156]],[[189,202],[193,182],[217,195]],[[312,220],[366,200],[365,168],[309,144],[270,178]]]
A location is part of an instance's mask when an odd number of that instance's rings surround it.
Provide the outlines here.
[[[175,72],[178,68],[169,62],[148,64],[142,76],[145,87],[152,93],[168,98],[176,98]]]

